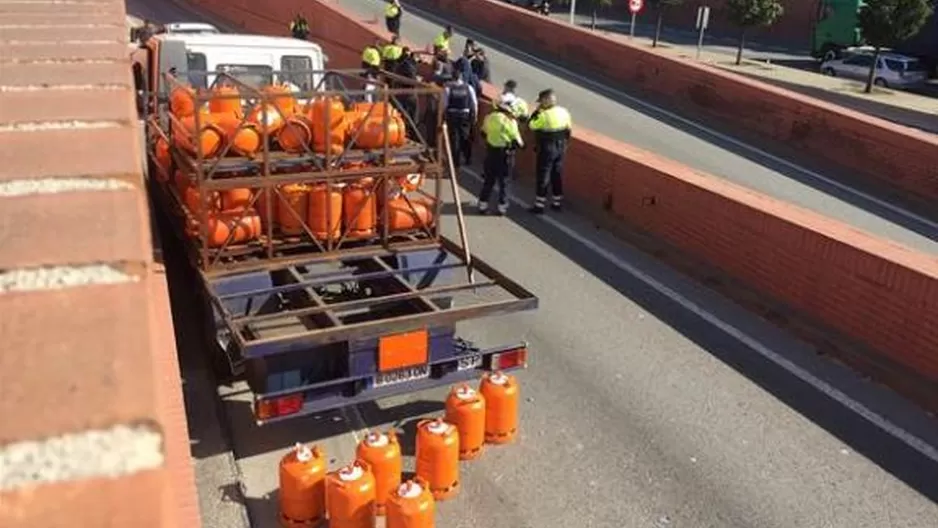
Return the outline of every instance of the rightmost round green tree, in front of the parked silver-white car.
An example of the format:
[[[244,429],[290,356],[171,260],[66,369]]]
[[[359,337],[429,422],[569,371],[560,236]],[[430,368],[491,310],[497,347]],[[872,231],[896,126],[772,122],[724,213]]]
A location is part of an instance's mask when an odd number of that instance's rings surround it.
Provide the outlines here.
[[[873,91],[880,51],[915,36],[931,13],[931,0],[866,0],[857,14],[860,34],[866,44],[873,46],[866,93]]]

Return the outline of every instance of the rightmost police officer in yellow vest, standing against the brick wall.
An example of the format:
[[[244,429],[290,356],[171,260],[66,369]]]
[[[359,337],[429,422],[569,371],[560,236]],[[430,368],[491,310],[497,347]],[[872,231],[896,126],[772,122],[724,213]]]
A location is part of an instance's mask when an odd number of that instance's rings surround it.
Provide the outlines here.
[[[570,141],[570,112],[557,106],[553,90],[544,90],[537,96],[538,107],[531,114],[528,128],[534,132],[537,149],[537,192],[531,212],[541,214],[547,204],[548,187],[551,208],[560,211],[563,201],[563,159]]]

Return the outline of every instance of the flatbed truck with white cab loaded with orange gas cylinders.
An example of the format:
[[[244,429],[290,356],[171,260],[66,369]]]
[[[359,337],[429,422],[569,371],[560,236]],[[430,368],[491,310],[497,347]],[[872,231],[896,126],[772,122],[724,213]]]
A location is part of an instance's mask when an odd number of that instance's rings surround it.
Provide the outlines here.
[[[316,44],[269,36],[157,34],[134,57],[151,201],[173,234],[166,247],[183,253],[192,272],[195,311],[212,363],[246,380],[259,425],[527,366],[523,341],[481,348],[457,335],[462,321],[533,310],[538,300],[470,253],[442,114],[437,111],[431,127],[435,137],[424,137],[429,133],[398,111],[413,125],[405,140],[367,148],[356,143],[368,123],[366,132],[374,134],[380,122],[390,137],[395,110],[389,109],[400,110],[404,97],[439,109],[438,87],[390,74],[386,83],[362,86],[363,72],[327,70]],[[257,126],[272,117],[289,119],[276,99],[283,93],[267,90],[274,85],[291,87],[296,108],[300,102],[341,101],[341,108],[364,104],[369,115],[355,118],[359,129],[350,127],[336,151],[309,144],[279,151],[283,138]],[[203,152],[202,136],[193,149],[183,140],[211,128],[216,114],[202,109],[218,103],[219,86],[229,95],[237,92],[244,108],[236,112],[240,123],[235,129],[229,123],[221,152]],[[180,94],[196,109],[185,126],[173,106]],[[435,104],[428,104],[433,98]],[[247,117],[252,108],[262,114],[252,114],[253,123]],[[322,126],[330,122],[327,117]],[[260,134],[261,147],[251,155],[233,153],[232,138],[248,129]],[[365,188],[377,201],[373,232],[351,236],[355,218],[348,216],[355,214],[346,207],[341,227],[317,234],[308,221],[312,213],[300,214],[295,200],[288,200],[287,189],[297,185],[330,195]],[[458,242],[441,233],[446,187]],[[249,203],[234,213],[240,217],[226,217],[233,222],[227,236],[213,239],[210,231],[222,222],[211,216],[213,200],[243,189],[250,190]],[[410,211],[401,216],[392,202]],[[299,232],[281,232],[282,226],[265,220],[256,236],[236,240],[239,222],[278,204],[281,213],[284,207],[292,212]],[[420,204],[428,221],[416,214]],[[419,225],[394,227],[393,218],[411,217]]]

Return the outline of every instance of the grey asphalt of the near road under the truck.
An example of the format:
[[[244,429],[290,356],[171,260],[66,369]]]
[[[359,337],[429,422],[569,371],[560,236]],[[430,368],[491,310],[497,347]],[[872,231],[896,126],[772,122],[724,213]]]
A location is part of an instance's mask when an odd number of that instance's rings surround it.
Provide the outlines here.
[[[128,10],[205,20],[166,1],[128,0]],[[513,67],[523,83],[525,68]],[[575,216],[533,219],[516,205],[508,218],[470,217],[471,246],[541,308],[460,333],[529,341],[522,437],[464,465],[438,526],[934,526],[932,419]],[[444,225],[452,233],[451,216]],[[177,298],[174,308],[185,309]],[[177,335],[183,353],[198,352],[185,327]],[[257,428],[243,387],[223,386],[215,423],[204,368],[184,367],[207,528],[240,526],[241,508],[254,527],[276,526],[277,462],[294,442],[319,443],[336,467],[367,427],[395,426],[410,452],[414,421],[443,399],[431,391]]]

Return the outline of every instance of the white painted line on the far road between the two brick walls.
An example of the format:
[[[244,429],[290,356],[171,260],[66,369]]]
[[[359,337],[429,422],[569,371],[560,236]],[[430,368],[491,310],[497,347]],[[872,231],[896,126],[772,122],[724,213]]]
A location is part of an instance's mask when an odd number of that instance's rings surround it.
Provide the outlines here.
[[[875,197],[875,196],[873,196],[873,195],[867,194],[867,193],[865,193],[865,192],[863,192],[863,191],[854,189],[853,187],[850,187],[849,185],[846,185],[846,184],[841,183],[841,182],[839,182],[839,181],[837,181],[837,180],[828,178],[827,176],[824,176],[824,175],[822,175],[822,174],[819,174],[819,173],[817,173],[817,172],[815,172],[815,171],[813,171],[813,170],[811,170],[811,169],[807,169],[807,168],[805,168],[805,167],[802,167],[802,166],[800,166],[800,165],[798,165],[798,164],[796,164],[796,163],[793,163],[793,162],[791,162],[791,161],[788,161],[788,160],[786,160],[786,159],[784,159],[784,158],[780,158],[780,157],[778,157],[778,156],[775,156],[775,155],[773,155],[773,154],[770,154],[770,153],[768,153],[768,152],[766,152],[766,151],[764,151],[764,150],[762,150],[762,149],[760,149],[760,148],[758,148],[758,147],[754,147],[754,146],[752,146],[752,145],[750,145],[750,144],[748,144],[748,143],[744,143],[744,142],[742,142],[742,141],[740,141],[740,140],[738,140],[738,139],[736,139],[736,138],[734,138],[734,137],[732,137],[732,136],[728,136],[728,135],[726,135],[726,134],[717,132],[716,130],[713,130],[713,129],[708,128],[708,127],[706,127],[706,126],[704,126],[704,125],[701,125],[701,124],[699,124],[699,123],[696,123],[696,122],[694,122],[694,121],[691,121],[691,120],[689,120],[689,119],[687,119],[687,118],[684,118],[684,117],[682,117],[682,116],[680,116],[680,115],[678,115],[678,114],[675,114],[674,112],[670,112],[670,111],[668,111],[668,110],[665,110],[664,108],[661,108],[661,107],[656,106],[656,105],[653,105],[653,104],[651,104],[651,103],[649,103],[649,102],[643,101],[642,99],[639,99],[639,98],[637,98],[637,97],[633,97],[633,96],[631,96],[631,95],[629,95],[629,94],[627,94],[627,93],[624,93],[624,92],[621,92],[621,91],[619,91],[619,90],[616,90],[615,88],[613,88],[613,87],[611,87],[611,86],[608,86],[608,85],[605,85],[605,84],[603,84],[603,83],[597,82],[597,81],[595,81],[595,80],[593,80],[593,79],[590,79],[590,78],[588,78],[588,77],[584,77],[583,75],[580,75],[580,74],[578,74],[578,73],[572,72],[572,71],[568,70],[567,68],[564,68],[563,66],[560,66],[560,65],[558,65],[558,64],[554,64],[554,63],[552,63],[552,62],[550,62],[550,61],[546,61],[546,60],[541,59],[541,58],[539,58],[539,57],[535,57],[534,55],[531,55],[531,54],[529,54],[529,53],[526,53],[526,52],[524,52],[524,51],[521,51],[521,50],[519,50],[518,48],[515,48],[515,47],[513,47],[513,46],[509,46],[508,44],[505,44],[504,42],[502,42],[502,41],[500,41],[500,40],[498,40],[498,39],[492,38],[490,35],[482,34],[482,33],[479,33],[479,32],[476,32],[476,31],[473,31],[473,30],[470,30],[470,29],[467,29],[465,26],[461,26],[461,25],[459,25],[459,24],[453,23],[453,22],[451,22],[451,21],[449,21],[449,20],[447,20],[447,19],[444,19],[443,17],[439,17],[439,16],[436,16],[436,15],[433,15],[433,14],[431,14],[431,13],[428,13],[428,12],[422,10],[422,9],[418,9],[418,8],[416,8],[416,7],[413,7],[413,6],[407,6],[407,9],[409,9],[410,11],[412,11],[413,13],[415,13],[417,16],[420,16],[420,17],[422,17],[422,18],[426,18],[426,19],[430,19],[430,20],[433,20],[433,19],[435,19],[435,20],[446,20],[446,22],[447,22],[448,24],[450,24],[451,26],[453,26],[454,29],[456,29],[457,31],[459,31],[460,33],[462,33],[462,34],[464,34],[464,35],[467,35],[467,36],[469,36],[469,37],[474,38],[476,41],[486,41],[486,40],[487,40],[487,41],[490,41],[490,42],[494,42],[494,43],[498,44],[499,46],[502,46],[502,47],[504,47],[504,48],[506,48],[506,49],[510,49],[510,50],[514,51],[515,53],[517,53],[518,55],[520,55],[521,57],[524,57],[525,62],[532,63],[532,64],[536,64],[536,65],[540,66],[541,68],[546,68],[546,69],[548,70],[548,73],[550,73],[550,72],[549,72],[549,69],[551,69],[551,68],[552,68],[552,69],[555,69],[555,70],[559,70],[559,71],[563,72],[565,75],[568,75],[568,76],[570,76],[570,77],[576,79],[576,80],[579,81],[580,83],[582,83],[582,84],[584,84],[584,85],[586,85],[586,86],[588,86],[588,87],[590,87],[590,88],[592,88],[592,89],[594,89],[594,90],[600,90],[600,91],[605,91],[605,92],[614,93],[614,94],[616,94],[618,97],[621,97],[621,98],[623,98],[623,99],[626,99],[627,101],[632,102],[632,103],[634,103],[634,104],[636,104],[636,105],[638,105],[638,106],[641,106],[641,107],[646,108],[646,109],[648,109],[648,110],[653,110],[653,111],[655,111],[655,112],[658,112],[658,113],[660,113],[661,115],[664,115],[664,116],[668,117],[669,119],[673,119],[673,120],[675,120],[675,121],[677,121],[677,122],[679,122],[679,123],[681,123],[681,124],[683,124],[683,125],[686,125],[686,126],[688,126],[688,127],[691,127],[691,128],[696,129],[696,130],[699,130],[700,132],[704,132],[704,133],[706,133],[706,134],[709,134],[709,135],[711,135],[711,136],[713,136],[713,137],[715,137],[715,138],[717,138],[717,139],[719,139],[719,140],[721,140],[721,141],[725,141],[725,142],[727,142],[727,143],[729,143],[729,144],[731,144],[731,145],[733,145],[733,146],[735,146],[735,147],[739,147],[739,148],[744,149],[744,150],[746,150],[746,151],[748,151],[748,152],[750,152],[750,153],[753,153],[753,154],[758,154],[759,156],[762,156],[762,157],[764,157],[765,159],[771,160],[771,161],[774,162],[774,163],[778,163],[778,164],[780,164],[780,165],[784,165],[785,167],[788,167],[789,169],[798,171],[799,173],[801,173],[801,174],[803,174],[803,175],[805,175],[805,176],[809,176],[809,177],[811,177],[811,178],[813,178],[813,179],[815,179],[815,180],[817,180],[817,181],[823,182],[823,183],[825,183],[825,184],[827,184],[827,185],[830,185],[830,186],[832,186],[832,187],[836,187],[837,189],[839,189],[839,190],[841,190],[841,191],[850,193],[850,194],[852,194],[852,195],[854,195],[854,196],[856,196],[856,197],[858,197],[858,198],[862,198],[863,200],[866,200],[866,201],[868,201],[868,202],[870,202],[870,203],[874,203],[874,204],[878,205],[879,207],[882,207],[882,208],[884,208],[884,209],[888,209],[889,211],[891,211],[891,212],[893,212],[893,213],[895,213],[895,214],[897,214],[897,215],[904,216],[904,217],[906,217],[906,218],[908,218],[908,219],[910,219],[910,220],[914,220],[914,221],[916,221],[916,222],[918,222],[918,223],[920,223],[920,224],[922,224],[922,225],[928,226],[928,227],[931,228],[931,229],[938,230],[938,222],[934,222],[934,221],[932,221],[932,220],[930,220],[930,219],[928,219],[928,218],[925,218],[925,217],[923,217],[923,216],[917,215],[917,214],[915,214],[915,213],[913,213],[913,212],[911,212],[911,211],[907,211],[907,210],[903,209],[902,207],[899,207],[899,206],[897,206],[897,205],[895,205],[895,204],[889,203],[889,202],[887,202],[887,201],[885,201],[885,200],[881,200],[881,199],[879,199],[879,198],[877,198],[877,197]],[[612,138],[612,139],[616,139],[616,138]]]

